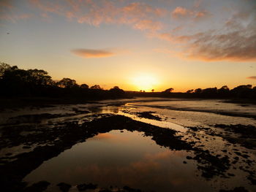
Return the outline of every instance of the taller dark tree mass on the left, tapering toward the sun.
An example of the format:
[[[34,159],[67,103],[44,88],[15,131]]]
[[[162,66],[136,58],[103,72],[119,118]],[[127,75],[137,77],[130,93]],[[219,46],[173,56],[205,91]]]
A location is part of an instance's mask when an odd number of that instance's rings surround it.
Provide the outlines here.
[[[0,64],[1,96],[46,96],[46,97],[75,97],[83,99],[116,99],[124,98],[125,92],[115,86],[103,90],[99,85],[78,85],[75,80],[63,78],[59,81],[41,69],[19,69],[18,66]]]

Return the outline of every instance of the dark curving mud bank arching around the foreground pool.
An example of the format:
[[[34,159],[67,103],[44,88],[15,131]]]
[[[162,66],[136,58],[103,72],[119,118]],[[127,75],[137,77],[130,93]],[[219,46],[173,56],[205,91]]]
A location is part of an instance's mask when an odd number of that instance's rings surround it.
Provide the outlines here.
[[[144,114],[145,115],[145,114]],[[219,128],[232,131],[232,126],[216,125]],[[251,127],[243,128],[240,131],[241,138],[249,137]],[[255,127],[254,127],[255,128]],[[249,130],[248,130],[249,129]],[[48,181],[41,181],[34,183],[34,185],[27,186],[27,183],[23,182],[23,177],[29,174],[32,170],[36,169],[43,161],[53,158],[59,155],[64,150],[69,149],[78,142],[84,142],[85,139],[94,137],[100,133],[107,133],[111,130],[127,130],[127,131],[140,131],[145,136],[151,137],[157,145],[168,147],[171,150],[187,150],[194,153],[193,156],[187,156],[187,161],[196,161],[197,169],[200,171],[201,177],[211,179],[215,176],[232,177],[233,174],[228,173],[230,166],[236,164],[239,158],[243,158],[247,164],[247,168],[255,164],[250,161],[249,155],[243,152],[237,152],[237,157],[230,159],[227,155],[212,155],[209,150],[203,150],[201,147],[195,146],[195,142],[186,141],[181,139],[181,136],[176,135],[176,131],[168,128],[160,128],[152,126],[147,123],[142,123],[131,118],[127,118],[121,115],[99,115],[91,122],[85,122],[81,125],[78,123],[64,123],[59,124],[59,127],[53,126],[52,128],[34,128],[33,126],[20,126],[4,128],[1,135],[0,147],[14,147],[23,145],[23,149],[28,148],[27,153],[21,153],[13,155],[11,153],[5,154],[4,158],[1,158],[1,191],[44,191],[48,188]],[[255,130],[255,129],[254,129]],[[29,131],[30,134],[26,136],[20,135],[22,131]],[[190,128],[190,131],[198,131],[197,128]],[[208,130],[206,130],[208,131]],[[194,133],[195,134],[195,133]],[[209,134],[214,134],[211,131]],[[232,139],[227,137],[231,142],[237,142],[245,147],[255,147],[255,132],[250,133],[252,135],[253,142],[243,142],[244,139],[240,137],[238,139]],[[38,145],[38,146],[37,146]],[[31,150],[31,146],[36,146]],[[184,164],[187,164],[184,161]],[[239,169],[245,169],[246,167],[239,167]],[[255,172],[250,172],[248,169],[248,179],[253,185],[256,184]],[[71,185],[69,183],[59,183],[60,191],[69,191]],[[79,191],[86,191],[86,189],[97,189],[97,183],[81,183],[77,185]],[[102,189],[99,191],[111,191],[110,188]],[[116,189],[114,190],[116,191]],[[140,191],[139,189],[133,189],[129,186],[119,188],[118,191]],[[161,189],[159,189],[161,191]],[[225,191],[225,190],[221,190]],[[245,188],[238,186],[234,191],[246,191]]]

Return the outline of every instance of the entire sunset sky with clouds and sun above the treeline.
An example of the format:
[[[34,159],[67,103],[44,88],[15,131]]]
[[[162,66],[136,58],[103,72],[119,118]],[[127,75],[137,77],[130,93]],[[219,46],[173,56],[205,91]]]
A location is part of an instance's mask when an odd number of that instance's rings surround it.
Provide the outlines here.
[[[126,91],[256,85],[255,0],[0,0],[0,61]]]

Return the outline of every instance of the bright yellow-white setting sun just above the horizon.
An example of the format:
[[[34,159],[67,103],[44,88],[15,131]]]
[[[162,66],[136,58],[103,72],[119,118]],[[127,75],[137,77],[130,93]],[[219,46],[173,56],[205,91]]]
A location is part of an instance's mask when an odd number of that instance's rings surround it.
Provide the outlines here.
[[[151,91],[156,88],[157,78],[151,74],[140,74],[133,77],[132,82],[139,91]]]

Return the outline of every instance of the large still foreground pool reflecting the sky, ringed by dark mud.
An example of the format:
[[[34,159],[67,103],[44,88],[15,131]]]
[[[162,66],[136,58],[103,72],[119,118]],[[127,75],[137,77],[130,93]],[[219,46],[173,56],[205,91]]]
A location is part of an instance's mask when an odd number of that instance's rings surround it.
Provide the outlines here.
[[[46,161],[24,180],[47,180],[53,185],[129,185],[144,191],[211,191],[208,183],[195,177],[195,164],[183,163],[187,155],[185,151],[160,147],[138,131],[110,131]]]

